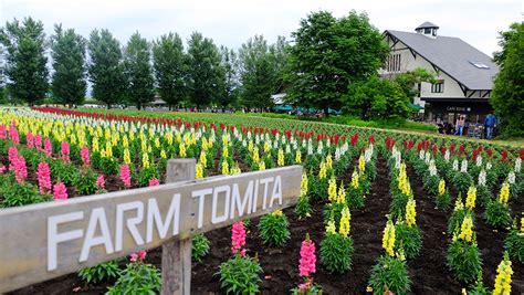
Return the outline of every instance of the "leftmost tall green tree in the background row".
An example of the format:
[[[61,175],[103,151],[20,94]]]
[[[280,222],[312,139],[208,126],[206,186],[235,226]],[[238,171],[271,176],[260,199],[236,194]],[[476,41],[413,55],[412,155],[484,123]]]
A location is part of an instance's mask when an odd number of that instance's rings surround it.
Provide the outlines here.
[[[17,19],[7,22],[0,31],[0,42],[8,52],[6,75],[14,102],[33,105],[45,98],[49,71],[43,23],[32,18],[22,23]]]

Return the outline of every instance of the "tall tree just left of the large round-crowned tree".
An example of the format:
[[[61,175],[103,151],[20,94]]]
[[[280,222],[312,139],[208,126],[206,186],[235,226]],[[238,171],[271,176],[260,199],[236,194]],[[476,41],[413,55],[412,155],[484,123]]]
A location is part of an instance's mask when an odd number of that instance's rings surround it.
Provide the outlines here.
[[[242,103],[248,107],[273,105],[271,95],[281,85],[281,71],[285,64],[285,41],[279,38],[279,42],[269,45],[262,35],[255,35],[240,49]]]

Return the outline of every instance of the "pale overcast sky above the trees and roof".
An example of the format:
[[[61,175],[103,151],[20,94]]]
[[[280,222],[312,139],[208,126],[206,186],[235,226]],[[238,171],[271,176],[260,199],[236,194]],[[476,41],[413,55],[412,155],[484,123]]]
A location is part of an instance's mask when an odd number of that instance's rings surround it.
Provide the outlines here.
[[[522,21],[524,0],[0,0],[0,23],[31,15],[48,34],[61,22],[84,36],[106,28],[123,43],[137,30],[149,40],[169,31],[187,40],[200,31],[216,44],[239,48],[254,34],[270,42],[289,39],[301,19],[319,9],[335,17],[366,11],[380,31],[412,32],[431,21],[440,35],[461,38],[491,55],[499,50],[497,32]]]

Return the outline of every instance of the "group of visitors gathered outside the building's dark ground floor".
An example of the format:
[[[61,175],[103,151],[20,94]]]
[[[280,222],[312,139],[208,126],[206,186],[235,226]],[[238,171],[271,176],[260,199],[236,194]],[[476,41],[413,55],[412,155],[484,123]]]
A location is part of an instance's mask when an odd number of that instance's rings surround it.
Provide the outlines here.
[[[448,122],[442,122],[440,117],[437,118],[437,126],[439,127],[440,134],[458,135],[478,138],[492,139],[494,129],[497,125],[497,119],[493,113],[490,113],[482,124],[480,120],[476,120],[475,124],[471,124],[464,114],[460,114],[455,120],[455,124]]]

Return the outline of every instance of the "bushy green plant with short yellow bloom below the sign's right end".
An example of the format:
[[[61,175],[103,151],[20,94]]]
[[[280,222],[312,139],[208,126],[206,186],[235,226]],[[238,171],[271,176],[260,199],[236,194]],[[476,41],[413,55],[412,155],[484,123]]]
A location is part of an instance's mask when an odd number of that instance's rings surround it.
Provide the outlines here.
[[[282,247],[291,239],[290,222],[277,210],[260,219],[259,231],[264,245]]]

